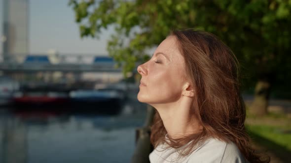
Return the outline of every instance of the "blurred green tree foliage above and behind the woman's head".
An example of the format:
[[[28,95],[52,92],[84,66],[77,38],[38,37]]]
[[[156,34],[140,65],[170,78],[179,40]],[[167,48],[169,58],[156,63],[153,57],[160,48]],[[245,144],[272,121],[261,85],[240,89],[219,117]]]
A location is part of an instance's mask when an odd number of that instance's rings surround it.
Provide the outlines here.
[[[146,50],[157,46],[171,29],[193,27],[218,35],[234,51],[249,81],[283,82],[291,70],[291,0],[70,0],[69,4],[82,37],[98,37],[102,29],[115,28],[108,52],[124,72],[148,59]]]

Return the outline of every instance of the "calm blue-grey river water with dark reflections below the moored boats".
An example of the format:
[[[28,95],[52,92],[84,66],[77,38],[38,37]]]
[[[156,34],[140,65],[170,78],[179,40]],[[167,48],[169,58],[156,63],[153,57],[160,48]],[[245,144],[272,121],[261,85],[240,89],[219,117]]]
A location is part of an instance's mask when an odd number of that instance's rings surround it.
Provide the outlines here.
[[[0,163],[128,163],[145,115],[140,104],[119,115],[0,109]]]

